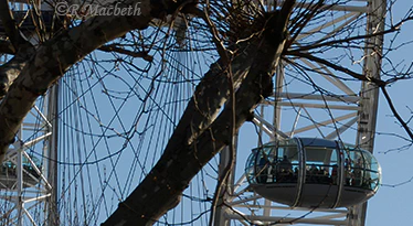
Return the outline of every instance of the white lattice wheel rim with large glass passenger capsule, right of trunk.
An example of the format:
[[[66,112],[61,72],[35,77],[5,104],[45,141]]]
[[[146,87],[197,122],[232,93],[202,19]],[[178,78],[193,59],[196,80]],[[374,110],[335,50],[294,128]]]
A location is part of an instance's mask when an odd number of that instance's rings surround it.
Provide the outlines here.
[[[264,4],[269,8],[282,2]],[[360,43],[364,53],[359,71],[380,78],[383,40],[372,34],[384,29],[385,1],[346,1],[326,6],[327,11],[332,17],[309,25],[297,39],[297,49],[311,39],[345,39],[340,30],[361,22],[367,37]],[[322,35],[317,36],[319,33]],[[316,53],[320,58],[330,54]],[[313,73],[292,73],[297,64]],[[274,96],[255,111],[257,148],[246,160],[245,174],[230,180],[230,192],[222,198],[226,207],[216,214],[216,225],[364,225],[367,200],[377,192],[381,176],[371,155],[378,88],[369,82],[354,86],[330,68],[300,57],[278,66]],[[239,154],[245,151],[244,143],[239,141]],[[221,158],[227,161],[227,153]],[[240,175],[235,170],[232,174]]]

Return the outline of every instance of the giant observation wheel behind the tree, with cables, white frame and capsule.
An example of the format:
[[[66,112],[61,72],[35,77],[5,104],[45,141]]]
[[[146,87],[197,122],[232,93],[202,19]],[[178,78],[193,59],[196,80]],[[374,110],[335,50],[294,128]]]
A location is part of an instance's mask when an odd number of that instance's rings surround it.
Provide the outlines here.
[[[304,9],[311,2],[306,3],[305,1],[297,8]],[[264,1],[262,3],[269,10],[277,9],[283,1]],[[367,37],[360,43],[362,49],[360,52],[362,53],[346,54],[359,54],[360,62],[354,64],[354,67],[359,66],[359,68],[356,71],[378,78],[381,62],[377,53],[381,51],[382,36],[369,36],[369,34],[380,33],[383,30],[385,1],[338,1],[331,6],[326,4],[322,13],[326,15],[325,19],[308,24],[308,28],[297,39],[297,43],[292,46],[340,39],[343,35],[340,32],[343,28],[354,26],[358,29],[354,32],[366,28]],[[45,18],[45,20],[49,19]],[[31,24],[27,25],[30,30]],[[201,32],[197,34],[197,31],[187,32],[192,32],[191,35],[201,35]],[[173,39],[181,39],[177,33]],[[202,44],[198,44],[195,47],[200,46]],[[172,65],[171,68],[166,66],[152,68],[156,74],[161,72],[172,74],[170,77],[157,76],[153,79],[160,84],[170,83],[173,85],[163,89],[156,87],[159,96],[152,97],[149,95],[151,89],[139,87],[141,84],[151,85],[146,80],[144,72],[138,79],[133,76],[127,79],[120,78],[115,74],[119,69],[119,64],[115,62],[115,66],[110,65],[110,69],[105,69],[103,67],[109,63],[102,61],[102,65],[95,65],[98,57],[91,56],[77,67],[94,69],[74,68],[70,71],[59,86],[40,98],[23,122],[19,139],[10,147],[3,164],[0,189],[2,190],[1,197],[6,201],[2,205],[2,213],[8,215],[4,217],[4,220],[7,219],[4,224],[56,225],[56,222],[60,222],[61,224],[93,225],[109,215],[113,206],[117,204],[117,200],[125,198],[133,189],[131,184],[138,181],[134,176],[145,176],[153,164],[153,159],[161,154],[159,152],[150,153],[151,155],[145,154],[142,150],[146,147],[162,146],[166,142],[165,138],[159,137],[167,138],[168,133],[173,130],[173,123],[179,120],[178,112],[184,108],[182,103],[190,97],[194,84],[201,78],[202,69],[197,71],[198,65],[193,64],[192,67],[188,66],[190,65],[188,62],[211,63],[209,60],[199,60],[198,55],[191,55],[188,50],[182,53],[180,49],[182,49],[182,43],[176,46],[176,52],[165,53],[167,62]],[[208,54],[205,53],[203,57],[208,58]],[[335,53],[331,50],[318,53],[316,56],[321,54],[335,58]],[[106,56],[99,55],[102,58]],[[351,66],[354,62],[346,63]],[[309,73],[303,73],[297,65],[301,65],[306,69],[309,68]],[[133,65],[125,67],[125,71],[134,69]],[[142,71],[145,69],[147,68],[144,66]],[[343,82],[346,79],[348,82]],[[112,86],[116,83],[119,83],[116,88],[125,88],[127,92],[115,92]],[[179,90],[178,87],[180,87]],[[96,93],[102,93],[107,99],[97,97]],[[242,168],[241,179],[233,179],[233,185],[229,186],[231,192],[223,197],[222,202],[225,205],[218,208],[214,216],[215,225],[363,225],[367,211],[367,204],[363,202],[375,193],[380,180],[380,166],[371,155],[378,90],[368,82],[360,85],[360,82],[348,79],[342,73],[331,72],[322,64],[297,56],[286,58],[279,65],[274,94],[255,111],[254,123],[258,136],[257,141],[254,142],[258,148],[254,149],[255,152],[248,160],[251,168],[237,165],[239,170],[235,169],[232,173],[233,176],[239,175],[240,168]],[[133,98],[137,100],[152,98],[152,105],[141,107],[141,112],[148,112],[147,115],[126,117],[130,111],[136,110],[134,106],[126,103]],[[110,117],[106,119],[104,114],[99,114],[102,111],[110,111]],[[158,117],[158,114],[162,117]],[[82,117],[85,119],[82,120]],[[146,121],[149,126],[141,127],[140,121]],[[171,122],[171,126],[163,126],[166,121]],[[135,126],[127,127],[128,123]],[[155,128],[153,131],[150,128]],[[129,133],[130,131],[133,132]],[[156,139],[158,140],[155,141]],[[133,146],[133,141],[139,144]],[[121,143],[120,148],[119,143]],[[262,151],[265,147],[267,147],[266,150],[269,150],[268,152]],[[285,147],[289,147],[292,150],[295,147],[295,152],[282,152],[280,150],[284,150]],[[329,149],[330,152],[320,151],[325,154],[311,155],[313,152],[308,151],[321,148]],[[129,149],[130,155],[121,155]],[[76,154],[73,153],[74,151]],[[241,151],[245,152],[239,144],[237,152]],[[330,160],[336,154],[336,162],[327,162],[325,160],[327,153]],[[223,152],[222,159],[219,160],[221,164],[226,161],[225,154],[227,153]],[[260,159],[258,157],[265,157],[267,160],[276,162],[274,154],[279,162],[286,155],[286,160],[295,165],[292,166],[293,172],[295,169],[299,171],[294,183],[277,183],[277,180],[278,182],[288,180],[292,182],[292,179],[289,174],[273,173],[277,171],[276,164],[274,166],[268,164],[266,180],[260,182],[261,173],[257,173],[255,169],[260,164],[260,160],[264,158]],[[347,158],[345,154],[348,154]],[[368,165],[368,163],[375,165],[375,168],[361,168],[362,174],[369,174],[372,180],[369,189],[366,189],[361,181],[357,182],[356,177],[350,179],[346,184],[346,159],[353,161],[349,172],[354,172],[358,169],[356,168],[358,157],[361,158],[362,165]],[[244,161],[247,159],[244,158]],[[215,163],[220,164],[218,160]],[[328,176],[320,175],[309,179],[310,174],[306,170],[311,164],[318,171],[321,168],[326,170]],[[331,186],[332,181],[327,181],[333,180],[335,164],[338,169],[336,187]],[[123,166],[128,170],[117,170]],[[140,169],[141,172],[131,170],[134,168]],[[206,168],[215,171],[218,166],[208,165]],[[245,175],[244,170],[246,171]],[[190,206],[193,216],[189,218],[201,216],[200,218],[204,218],[204,222],[194,224],[206,223],[209,217],[205,218],[202,213],[209,208],[209,205],[205,204],[209,201],[205,197],[209,197],[211,192],[205,189],[205,183],[215,176],[208,170],[200,173],[191,184],[190,192],[183,195],[182,204],[179,206],[181,209],[168,213],[169,216],[166,216],[163,220],[166,223],[170,220],[184,222],[183,209]],[[307,177],[308,181],[306,181]],[[250,183],[247,183],[248,180]],[[296,184],[295,187],[282,193],[285,196],[289,195],[288,201],[274,196],[274,192],[268,190],[268,187],[274,189],[277,185],[285,189],[293,186],[292,184]],[[315,185],[316,189],[306,187],[308,184]],[[328,192],[322,190],[324,185],[329,187]],[[319,191],[320,194],[308,192],[313,190]],[[362,194],[360,197],[352,197],[358,202],[340,203],[339,197],[351,195],[351,193],[347,193],[348,190],[357,190],[358,194]],[[319,196],[318,200],[315,196]],[[275,202],[284,205],[278,205]],[[308,213],[316,214],[307,216]],[[306,217],[303,217],[304,215]]]

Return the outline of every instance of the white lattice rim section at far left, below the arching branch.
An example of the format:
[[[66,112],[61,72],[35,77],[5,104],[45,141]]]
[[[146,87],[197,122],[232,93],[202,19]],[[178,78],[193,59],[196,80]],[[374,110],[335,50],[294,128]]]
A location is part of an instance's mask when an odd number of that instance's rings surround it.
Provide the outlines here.
[[[56,87],[39,98],[7,151],[0,175],[2,225],[56,225]]]

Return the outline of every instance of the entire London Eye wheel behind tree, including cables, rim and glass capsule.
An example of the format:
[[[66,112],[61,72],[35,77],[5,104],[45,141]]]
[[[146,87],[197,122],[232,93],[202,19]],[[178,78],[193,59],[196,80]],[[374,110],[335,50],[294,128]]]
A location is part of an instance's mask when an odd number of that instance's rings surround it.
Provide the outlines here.
[[[205,10],[233,7],[213,2],[215,8]],[[364,225],[366,203],[381,184],[373,157],[379,93],[369,80],[354,79],[335,65],[380,78],[382,35],[371,34],[384,30],[386,2],[297,2],[288,23],[294,40],[276,67],[273,95],[252,112],[253,123],[235,132],[235,157],[226,148],[212,158],[180,203],[155,224]],[[253,24],[282,9],[284,1],[250,3],[237,20]],[[33,6],[20,1],[10,8],[34,46],[46,43],[54,29],[93,20],[55,17],[50,9],[35,17]],[[150,175],[197,85],[221,66],[208,20],[173,17],[152,20],[149,29],[100,46],[35,101],[2,165],[3,224],[97,225]],[[247,39],[242,36],[245,24],[220,13],[211,20],[227,34],[223,44],[236,49],[240,42],[244,47],[240,40]],[[2,40],[7,33],[0,26]],[[352,35],[363,39],[339,42]],[[361,60],[354,63],[353,55]],[[12,54],[1,57],[6,64]],[[245,133],[254,134],[252,150],[243,147]],[[236,165],[219,184],[232,158]],[[215,186],[223,186],[216,196],[220,205],[212,202]],[[294,212],[317,214],[285,217]]]

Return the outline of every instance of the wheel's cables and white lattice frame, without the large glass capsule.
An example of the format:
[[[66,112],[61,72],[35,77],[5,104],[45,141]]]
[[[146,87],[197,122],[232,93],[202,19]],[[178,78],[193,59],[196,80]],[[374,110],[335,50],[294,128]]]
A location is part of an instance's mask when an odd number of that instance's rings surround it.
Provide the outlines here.
[[[342,2],[327,8],[326,14],[336,12],[330,14],[330,21],[322,25],[309,24],[298,42],[315,39],[313,34],[317,34],[317,39],[331,39],[348,25],[362,30],[367,20],[368,33],[382,29],[385,2]],[[280,3],[264,2],[268,8]],[[162,154],[160,150],[173,132],[194,86],[216,56],[211,51],[215,46],[205,42],[211,40],[211,34],[198,19],[184,21],[184,31],[171,30],[171,26],[153,21],[152,28],[133,31],[117,43],[127,50],[142,52],[147,51],[139,49],[144,44],[137,45],[130,40],[149,40],[151,61],[159,66],[117,53],[91,54],[65,74],[59,92],[51,89],[36,101],[8,151],[6,163],[20,168],[15,174],[21,180],[1,190],[2,213],[8,214],[3,217],[6,225],[97,225],[145,179]],[[170,33],[172,35],[167,35]],[[179,42],[182,36],[187,40],[184,44]],[[368,43],[374,43],[379,46],[374,51],[380,51],[380,36],[368,39]],[[379,76],[377,55],[371,49],[366,51],[360,55],[367,56],[361,61],[364,63],[360,71]],[[299,58],[290,61],[311,67],[315,71],[311,77],[317,75],[317,79],[326,79],[317,85],[329,94],[314,92],[308,79],[298,77],[294,64],[284,61],[276,75],[275,96],[265,100],[255,115],[260,137],[271,140],[306,133],[342,139],[372,151],[377,90],[368,83],[361,89],[359,82],[343,83],[335,77],[341,75],[315,63]],[[325,115],[317,115],[317,110]],[[240,152],[242,147],[237,150]],[[227,152],[223,151],[222,155],[225,154]],[[39,161],[29,160],[34,157]],[[225,161],[225,158],[215,158],[205,165],[182,194],[181,203],[157,225],[206,225],[216,177]],[[22,162],[20,166],[19,162]],[[233,175],[236,174],[234,171]],[[233,192],[224,198],[226,205],[218,207],[215,225],[277,222],[362,225],[364,220],[363,205],[351,209],[290,209],[264,201],[248,190],[243,179],[232,184]],[[297,217],[288,215],[296,211]],[[309,212],[317,212],[317,216],[300,217]]]

